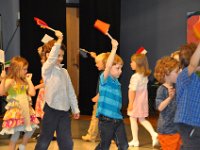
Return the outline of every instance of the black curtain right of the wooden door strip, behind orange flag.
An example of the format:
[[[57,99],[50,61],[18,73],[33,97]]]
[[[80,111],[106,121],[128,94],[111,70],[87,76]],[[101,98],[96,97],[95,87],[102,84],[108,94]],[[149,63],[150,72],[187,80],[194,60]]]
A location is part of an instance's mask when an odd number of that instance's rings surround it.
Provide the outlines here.
[[[97,54],[111,50],[110,39],[94,28],[97,19],[110,24],[109,33],[120,43],[120,3],[120,0],[80,0],[81,48]],[[98,74],[94,59],[80,57],[79,106],[82,114],[92,112],[91,98],[96,95]]]

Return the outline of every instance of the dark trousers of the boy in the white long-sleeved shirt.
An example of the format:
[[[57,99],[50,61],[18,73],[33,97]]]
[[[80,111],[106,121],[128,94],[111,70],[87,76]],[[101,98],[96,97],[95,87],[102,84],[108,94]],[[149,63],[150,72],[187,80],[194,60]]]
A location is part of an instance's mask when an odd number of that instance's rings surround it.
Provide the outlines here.
[[[47,150],[56,131],[59,150],[72,150],[71,120],[68,111],[59,111],[44,107],[42,129],[35,150]]]

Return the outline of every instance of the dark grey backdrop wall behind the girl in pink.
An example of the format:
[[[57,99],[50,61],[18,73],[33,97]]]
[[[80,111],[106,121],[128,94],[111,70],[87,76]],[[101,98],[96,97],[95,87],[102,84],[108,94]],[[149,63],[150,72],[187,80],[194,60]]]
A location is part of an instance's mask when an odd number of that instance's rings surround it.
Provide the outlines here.
[[[131,55],[144,46],[153,71],[157,59],[186,43],[186,14],[200,10],[199,6],[200,1],[196,0],[121,1],[120,55],[125,60],[121,78],[124,101],[128,102]],[[153,81],[152,76],[150,81]]]

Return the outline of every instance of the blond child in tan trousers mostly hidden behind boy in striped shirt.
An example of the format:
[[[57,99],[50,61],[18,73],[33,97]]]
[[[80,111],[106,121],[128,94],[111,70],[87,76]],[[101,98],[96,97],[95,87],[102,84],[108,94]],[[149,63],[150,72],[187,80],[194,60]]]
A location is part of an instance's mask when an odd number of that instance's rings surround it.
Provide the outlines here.
[[[106,53],[101,53],[96,56],[96,53],[90,52],[91,57],[95,59],[96,67],[99,71],[103,71],[105,69],[105,55]],[[99,83],[98,83],[99,86]],[[85,136],[82,136],[82,139],[85,141],[95,141],[97,136],[98,136],[98,118],[96,117],[96,111],[97,111],[97,101],[99,98],[98,94],[98,89],[97,89],[97,95],[92,98],[92,101],[95,102],[93,106],[93,111],[92,111],[92,118],[90,121],[90,126],[88,129],[88,133]]]

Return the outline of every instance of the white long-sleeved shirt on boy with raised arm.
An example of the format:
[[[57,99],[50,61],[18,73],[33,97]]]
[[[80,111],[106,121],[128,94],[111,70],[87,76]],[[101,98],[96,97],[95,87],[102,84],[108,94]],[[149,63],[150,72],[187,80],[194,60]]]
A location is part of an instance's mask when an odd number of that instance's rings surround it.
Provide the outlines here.
[[[59,50],[60,44],[55,43],[42,67],[45,85],[44,99],[51,108],[68,111],[71,107],[73,113],[79,113],[78,101],[70,76],[62,65],[56,64]]]

